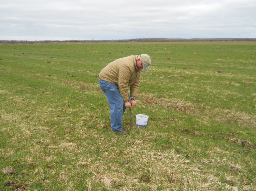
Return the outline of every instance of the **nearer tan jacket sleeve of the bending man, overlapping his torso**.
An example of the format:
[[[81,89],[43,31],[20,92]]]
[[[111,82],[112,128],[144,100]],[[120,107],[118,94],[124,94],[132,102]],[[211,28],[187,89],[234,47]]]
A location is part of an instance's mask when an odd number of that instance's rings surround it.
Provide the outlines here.
[[[118,88],[124,102],[129,100],[128,97],[128,84],[131,77],[131,70],[128,66],[123,66],[119,68],[118,72]]]

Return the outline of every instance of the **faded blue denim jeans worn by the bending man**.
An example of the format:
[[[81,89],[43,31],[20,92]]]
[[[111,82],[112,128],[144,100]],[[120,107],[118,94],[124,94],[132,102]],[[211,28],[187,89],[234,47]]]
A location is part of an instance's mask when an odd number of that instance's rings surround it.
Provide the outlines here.
[[[106,82],[99,79],[100,88],[105,93],[110,105],[110,121],[112,131],[121,131],[122,117],[125,112],[124,99],[119,92],[119,88],[115,83]],[[130,97],[129,97],[130,98]]]

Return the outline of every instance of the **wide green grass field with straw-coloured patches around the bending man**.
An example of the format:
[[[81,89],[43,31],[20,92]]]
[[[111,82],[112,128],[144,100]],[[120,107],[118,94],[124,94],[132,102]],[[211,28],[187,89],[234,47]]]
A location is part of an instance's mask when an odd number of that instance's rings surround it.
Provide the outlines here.
[[[118,135],[98,73],[141,53]],[[255,42],[0,45],[0,190],[256,190],[255,74]]]

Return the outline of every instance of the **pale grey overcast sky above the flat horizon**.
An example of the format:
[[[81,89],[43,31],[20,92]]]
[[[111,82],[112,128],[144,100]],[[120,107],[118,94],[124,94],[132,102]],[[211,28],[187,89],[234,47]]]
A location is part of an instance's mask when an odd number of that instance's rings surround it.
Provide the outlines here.
[[[0,0],[0,40],[256,38],[256,0]]]

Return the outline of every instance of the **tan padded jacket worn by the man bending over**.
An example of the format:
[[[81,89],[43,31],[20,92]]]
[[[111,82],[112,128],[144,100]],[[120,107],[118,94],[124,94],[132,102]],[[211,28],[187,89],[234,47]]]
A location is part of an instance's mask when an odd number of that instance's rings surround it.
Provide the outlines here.
[[[141,70],[136,67],[136,56],[119,58],[108,64],[99,73],[99,79],[115,83],[124,101],[128,101],[128,86],[131,97],[138,96]]]

